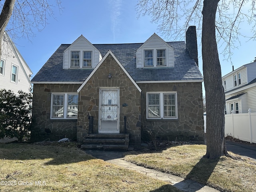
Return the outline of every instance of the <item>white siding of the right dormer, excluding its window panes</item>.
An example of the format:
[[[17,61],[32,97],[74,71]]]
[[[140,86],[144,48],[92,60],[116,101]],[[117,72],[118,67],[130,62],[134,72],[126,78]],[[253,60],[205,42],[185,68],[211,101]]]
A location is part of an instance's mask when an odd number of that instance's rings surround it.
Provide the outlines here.
[[[174,49],[166,42],[164,42],[164,40],[162,40],[158,35],[153,34],[142,46],[140,46],[140,48],[138,48],[136,52],[137,68],[144,67],[143,58],[144,50],[146,49],[154,50],[154,56],[156,56],[156,49],[165,49],[166,66],[174,67]],[[156,58],[154,58],[154,60],[156,60]]]

